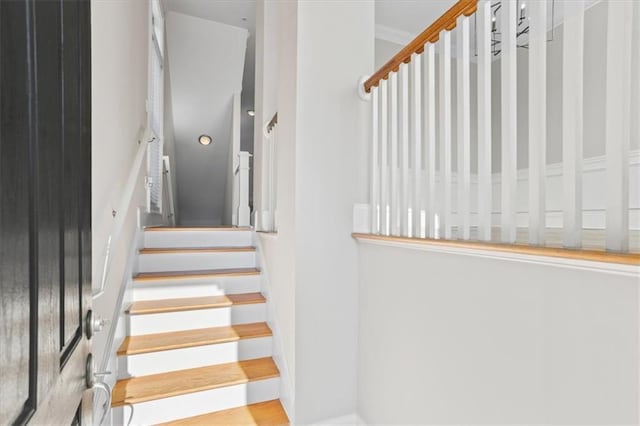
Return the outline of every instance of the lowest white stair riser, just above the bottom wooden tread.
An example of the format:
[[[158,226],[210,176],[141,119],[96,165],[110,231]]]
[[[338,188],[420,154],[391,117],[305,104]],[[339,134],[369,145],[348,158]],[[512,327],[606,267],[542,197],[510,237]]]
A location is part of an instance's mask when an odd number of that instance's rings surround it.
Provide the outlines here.
[[[277,399],[278,386],[279,378],[273,378],[142,402],[134,405],[131,424],[157,424]],[[125,421],[129,418],[130,410],[129,407],[124,408]]]

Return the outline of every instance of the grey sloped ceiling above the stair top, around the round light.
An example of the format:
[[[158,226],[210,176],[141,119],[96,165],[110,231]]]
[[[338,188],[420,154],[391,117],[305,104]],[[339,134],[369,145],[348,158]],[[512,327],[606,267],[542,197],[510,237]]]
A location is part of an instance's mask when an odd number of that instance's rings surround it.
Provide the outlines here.
[[[248,33],[171,9],[166,15],[180,218],[214,225],[223,218],[232,100],[242,86]],[[200,145],[201,134],[213,143]]]

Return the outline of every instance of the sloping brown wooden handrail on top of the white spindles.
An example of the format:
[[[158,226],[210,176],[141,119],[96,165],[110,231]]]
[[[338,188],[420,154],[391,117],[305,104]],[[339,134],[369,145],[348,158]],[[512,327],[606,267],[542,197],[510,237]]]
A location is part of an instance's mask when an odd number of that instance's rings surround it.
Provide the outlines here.
[[[369,93],[372,87],[377,87],[380,80],[387,79],[389,73],[397,72],[400,64],[409,63],[411,55],[414,53],[422,53],[424,45],[427,43],[435,43],[440,38],[440,32],[443,30],[451,31],[456,27],[457,20],[460,16],[470,16],[475,13],[478,7],[478,0],[458,0],[444,15],[439,17],[433,24],[424,30],[420,35],[414,38],[400,52],[375,72],[367,81],[364,82],[364,90]]]

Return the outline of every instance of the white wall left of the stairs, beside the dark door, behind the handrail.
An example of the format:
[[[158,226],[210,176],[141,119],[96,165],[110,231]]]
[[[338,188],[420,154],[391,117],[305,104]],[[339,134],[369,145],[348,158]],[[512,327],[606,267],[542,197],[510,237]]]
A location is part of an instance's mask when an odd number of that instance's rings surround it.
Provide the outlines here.
[[[127,176],[138,150],[137,138],[146,126],[149,3],[93,0],[91,2],[92,61],[92,274],[100,285],[107,238],[118,210]],[[144,168],[143,168],[144,169]],[[132,207],[122,237],[112,247],[105,294],[94,301],[94,312],[111,318],[137,224],[137,206],[145,202],[144,180],[137,177]],[[108,328],[93,339],[98,361]]]

